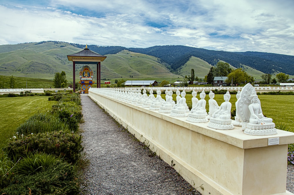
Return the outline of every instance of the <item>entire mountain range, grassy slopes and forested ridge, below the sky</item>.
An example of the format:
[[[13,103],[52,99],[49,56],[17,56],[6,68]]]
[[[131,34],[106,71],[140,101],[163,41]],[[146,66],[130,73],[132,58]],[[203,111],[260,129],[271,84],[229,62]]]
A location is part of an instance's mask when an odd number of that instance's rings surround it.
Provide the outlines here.
[[[24,77],[31,77],[31,74],[36,77],[38,74],[38,78],[41,76],[40,78],[46,79],[52,79],[54,72],[62,70],[72,74],[72,62],[68,61],[67,55],[79,52],[85,46],[62,41],[0,45],[0,74]],[[195,76],[204,78],[208,73],[205,71],[210,66],[216,65],[219,60],[228,62],[235,68],[241,67],[245,71],[250,69],[252,74],[257,72],[254,75],[257,79],[260,79],[262,73],[284,72],[294,75],[294,56],[283,54],[250,51],[226,52],[183,45],[149,48],[98,45],[87,45],[87,47],[94,52],[108,56],[107,60],[101,64],[105,67],[101,72],[101,77],[108,79],[128,78],[128,76],[166,79],[171,77],[170,74],[173,78],[180,78],[180,75],[177,74],[190,75],[190,68],[198,70],[198,75]],[[120,66],[120,69],[117,69],[116,66]],[[76,67],[76,74],[79,68],[81,67]],[[96,71],[95,67],[93,71]]]

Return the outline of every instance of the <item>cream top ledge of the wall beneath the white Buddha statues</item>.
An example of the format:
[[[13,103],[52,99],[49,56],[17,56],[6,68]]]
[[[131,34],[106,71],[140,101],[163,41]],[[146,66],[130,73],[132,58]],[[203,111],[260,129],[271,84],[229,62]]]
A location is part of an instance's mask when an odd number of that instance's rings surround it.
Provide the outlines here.
[[[98,94],[95,91],[91,91],[94,94]],[[91,94],[89,94],[91,96]],[[243,132],[241,127],[235,127],[232,130],[218,130],[209,128],[207,123],[192,123],[186,121],[187,117],[172,117],[169,113],[159,113],[158,111],[149,110],[148,108],[143,108],[141,106],[136,106],[133,104],[129,104],[117,99],[113,99],[108,96],[104,96],[102,94],[98,94],[99,96],[105,97],[111,101],[116,101],[119,104],[123,104],[129,108],[136,109],[138,111],[144,112],[146,114],[161,118],[162,120],[169,121],[178,126],[182,126],[184,128],[190,129],[202,135],[206,135],[208,137],[214,138],[216,140],[223,141],[230,145],[234,145],[236,147],[240,147],[242,149],[256,148],[256,147],[271,147],[268,146],[269,138],[279,138],[279,145],[294,143],[294,133],[279,130],[277,129],[278,134],[276,135],[265,135],[265,136],[254,136],[247,135]]]

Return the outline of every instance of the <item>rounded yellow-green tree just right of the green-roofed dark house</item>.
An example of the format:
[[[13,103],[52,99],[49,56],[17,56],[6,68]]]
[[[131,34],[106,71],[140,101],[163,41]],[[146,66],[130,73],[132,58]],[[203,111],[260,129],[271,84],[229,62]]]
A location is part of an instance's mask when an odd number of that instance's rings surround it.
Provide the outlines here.
[[[242,68],[232,70],[232,72],[228,74],[227,77],[228,77],[226,80],[227,83],[231,83],[232,80],[233,80],[233,84],[254,82],[253,77],[248,75],[247,72],[245,72]]]

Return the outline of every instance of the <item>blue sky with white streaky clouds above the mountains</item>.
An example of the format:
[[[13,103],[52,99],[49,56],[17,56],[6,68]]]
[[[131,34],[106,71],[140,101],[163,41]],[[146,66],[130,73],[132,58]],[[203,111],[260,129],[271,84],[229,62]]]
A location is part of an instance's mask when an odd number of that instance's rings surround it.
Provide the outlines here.
[[[46,40],[294,55],[293,0],[1,0],[0,45]]]

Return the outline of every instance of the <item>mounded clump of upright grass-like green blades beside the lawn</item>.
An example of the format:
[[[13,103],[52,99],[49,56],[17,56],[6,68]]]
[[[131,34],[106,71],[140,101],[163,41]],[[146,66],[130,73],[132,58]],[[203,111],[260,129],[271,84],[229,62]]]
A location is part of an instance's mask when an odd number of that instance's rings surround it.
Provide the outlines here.
[[[63,130],[70,133],[70,127],[51,113],[37,113],[31,116],[25,123],[21,124],[16,131],[19,134],[45,133]]]

